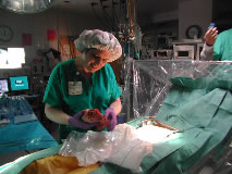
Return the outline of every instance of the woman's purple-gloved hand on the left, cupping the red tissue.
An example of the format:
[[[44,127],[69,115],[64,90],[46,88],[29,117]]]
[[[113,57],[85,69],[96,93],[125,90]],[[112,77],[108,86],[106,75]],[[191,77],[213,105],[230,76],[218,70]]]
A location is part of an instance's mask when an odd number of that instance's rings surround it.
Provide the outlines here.
[[[70,119],[69,119],[70,125],[76,126],[82,129],[88,129],[88,128],[96,126],[97,123],[86,123],[86,122],[82,121],[82,116],[83,116],[84,112],[85,111],[81,111],[81,112],[74,114],[73,116],[70,116]]]

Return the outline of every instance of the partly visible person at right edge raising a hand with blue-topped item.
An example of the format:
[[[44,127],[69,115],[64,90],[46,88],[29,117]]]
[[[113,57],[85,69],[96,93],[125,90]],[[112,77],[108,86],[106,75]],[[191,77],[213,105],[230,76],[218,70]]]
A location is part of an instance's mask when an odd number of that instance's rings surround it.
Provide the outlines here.
[[[204,38],[200,60],[232,61],[232,29],[218,35],[217,27],[209,28]]]

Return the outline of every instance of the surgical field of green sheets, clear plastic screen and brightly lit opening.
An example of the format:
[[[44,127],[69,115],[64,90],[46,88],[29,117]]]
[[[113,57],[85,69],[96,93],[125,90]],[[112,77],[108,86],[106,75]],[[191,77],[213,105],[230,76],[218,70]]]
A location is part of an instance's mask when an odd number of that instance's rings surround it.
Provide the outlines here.
[[[63,145],[17,160],[4,172],[62,154],[76,157],[90,174],[230,173],[232,63],[129,61],[126,66],[125,124],[111,133],[72,133]]]

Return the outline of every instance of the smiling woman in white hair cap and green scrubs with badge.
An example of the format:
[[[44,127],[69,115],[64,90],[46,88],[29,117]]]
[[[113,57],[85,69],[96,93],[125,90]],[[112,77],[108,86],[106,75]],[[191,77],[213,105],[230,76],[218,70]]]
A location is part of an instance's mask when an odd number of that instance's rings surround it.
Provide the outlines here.
[[[59,123],[59,135],[65,139],[71,130],[96,130],[95,123],[82,120],[87,109],[99,109],[109,120],[108,130],[117,125],[122,104],[112,67],[122,47],[110,33],[84,30],[74,41],[82,54],[59,63],[52,71],[44,96],[46,116]]]

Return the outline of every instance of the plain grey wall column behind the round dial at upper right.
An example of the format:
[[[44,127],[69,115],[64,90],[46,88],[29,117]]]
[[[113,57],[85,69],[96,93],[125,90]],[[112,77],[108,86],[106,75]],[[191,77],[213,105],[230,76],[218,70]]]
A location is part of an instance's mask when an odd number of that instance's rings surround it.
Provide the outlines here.
[[[179,0],[179,39],[186,38],[191,25],[203,28],[203,37],[212,18],[212,0]]]

